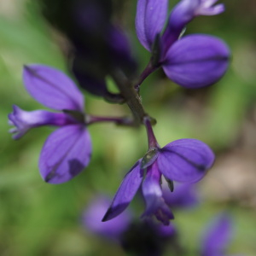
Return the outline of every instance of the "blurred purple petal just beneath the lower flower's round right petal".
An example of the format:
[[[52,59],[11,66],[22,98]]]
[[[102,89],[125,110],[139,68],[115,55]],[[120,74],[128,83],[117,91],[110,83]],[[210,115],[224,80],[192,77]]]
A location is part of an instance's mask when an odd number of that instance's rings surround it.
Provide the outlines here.
[[[163,198],[169,207],[188,208],[195,207],[199,203],[199,195],[194,183],[174,183],[173,192],[167,184],[162,185]]]

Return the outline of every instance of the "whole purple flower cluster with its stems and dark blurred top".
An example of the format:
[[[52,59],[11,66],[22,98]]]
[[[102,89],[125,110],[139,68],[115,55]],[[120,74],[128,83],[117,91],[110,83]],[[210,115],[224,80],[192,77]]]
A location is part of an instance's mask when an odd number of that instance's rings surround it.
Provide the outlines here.
[[[168,201],[168,194],[172,193],[162,189],[163,177],[171,191],[175,189],[173,182],[196,183],[212,167],[214,154],[207,144],[189,138],[178,139],[161,148],[152,128],[154,119],[144,111],[139,87],[159,67],[163,68],[169,79],[185,88],[214,84],[224,75],[230,50],[222,40],[203,34],[183,37],[185,26],[196,16],[218,15],[224,11],[224,5],[213,6],[215,2],[182,0],[167,20],[167,0],[138,0],[137,38],[151,52],[151,58],[137,79],[131,79],[136,73],[137,61],[131,57],[127,38],[107,18],[108,15],[100,15],[104,4],[91,0],[85,5],[79,5],[80,1],[74,2],[75,16],[68,16],[67,27],[57,25],[67,34],[75,49],[73,74],[81,87],[92,94],[111,102],[126,103],[131,109],[132,118],[98,117],[84,113],[84,96],[66,74],[44,65],[25,66],[23,81],[28,93],[46,108],[57,112],[26,112],[14,106],[13,113],[9,114],[9,124],[15,125],[15,128],[10,132],[15,139],[19,139],[34,127],[59,127],[49,135],[40,154],[39,171],[44,181],[65,183],[88,166],[92,151],[88,125],[105,121],[118,125],[144,125],[148,134],[148,152],[126,174],[102,221],[116,218],[124,212],[141,188],[146,203],[143,217],[154,216],[162,224],[170,224],[170,219],[174,218],[170,201],[174,199]],[[92,14],[96,14],[96,24],[91,23]],[[73,29],[76,26],[78,32]],[[97,31],[96,28],[101,29]],[[88,42],[86,38],[89,38]],[[96,44],[97,40],[99,44]],[[88,67],[88,70],[84,71],[84,67]],[[117,85],[118,94],[108,92],[107,75]],[[175,193],[171,197],[175,198]],[[183,202],[190,201],[188,198]]]

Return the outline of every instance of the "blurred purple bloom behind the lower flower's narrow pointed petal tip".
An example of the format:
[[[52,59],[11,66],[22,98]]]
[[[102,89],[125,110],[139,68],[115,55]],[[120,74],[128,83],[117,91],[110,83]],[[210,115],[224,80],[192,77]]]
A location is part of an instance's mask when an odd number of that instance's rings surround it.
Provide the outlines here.
[[[110,239],[119,239],[119,236],[131,224],[131,214],[122,212],[118,217],[102,222],[102,216],[108,210],[110,201],[105,197],[97,197],[86,207],[83,214],[83,224],[87,230],[98,236]]]

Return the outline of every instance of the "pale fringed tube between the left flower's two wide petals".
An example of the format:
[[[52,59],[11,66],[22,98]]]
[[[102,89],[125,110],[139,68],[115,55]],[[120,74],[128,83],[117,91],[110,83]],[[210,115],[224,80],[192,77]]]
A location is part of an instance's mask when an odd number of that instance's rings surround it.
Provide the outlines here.
[[[25,111],[18,106],[13,106],[14,111],[9,113],[9,125],[15,125],[15,128],[9,130],[14,133],[13,138],[19,139],[33,127],[42,125],[62,126],[73,123],[66,113],[52,113],[45,110]]]

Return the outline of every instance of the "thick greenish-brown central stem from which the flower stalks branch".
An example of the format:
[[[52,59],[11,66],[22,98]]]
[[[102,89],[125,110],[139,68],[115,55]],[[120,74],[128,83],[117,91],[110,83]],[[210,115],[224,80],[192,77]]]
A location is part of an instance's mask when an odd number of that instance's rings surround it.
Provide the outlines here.
[[[131,109],[131,113],[134,118],[134,125],[139,126],[143,124],[144,117],[148,116],[145,112],[141,97],[138,95],[137,90],[135,90],[132,84],[125,77],[125,74],[119,70],[115,69],[112,73],[113,80],[119,87],[120,93],[125,98],[125,102]]]

